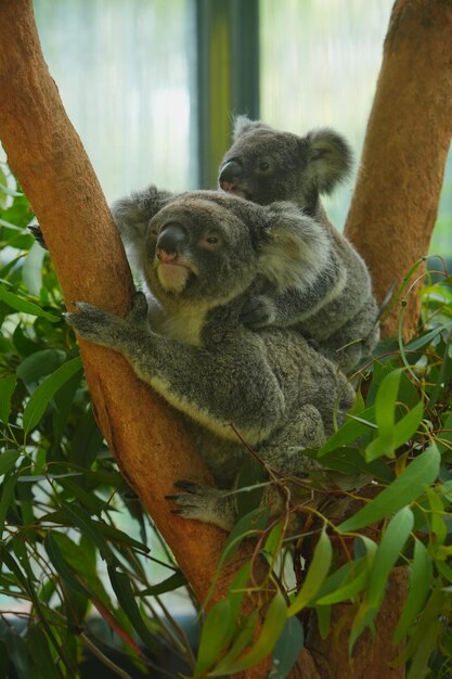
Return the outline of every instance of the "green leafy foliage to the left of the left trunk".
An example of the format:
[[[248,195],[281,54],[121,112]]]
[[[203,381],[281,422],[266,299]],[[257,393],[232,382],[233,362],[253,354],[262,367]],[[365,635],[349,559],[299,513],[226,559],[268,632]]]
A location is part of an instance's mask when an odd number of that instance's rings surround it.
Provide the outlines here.
[[[0,165],[0,678],[76,679],[86,649],[108,646],[144,672],[142,648],[154,667],[169,645],[189,669],[186,636],[159,606],[185,580],[98,428],[31,220]],[[96,636],[92,614],[114,636]]]

